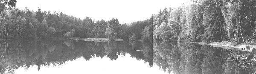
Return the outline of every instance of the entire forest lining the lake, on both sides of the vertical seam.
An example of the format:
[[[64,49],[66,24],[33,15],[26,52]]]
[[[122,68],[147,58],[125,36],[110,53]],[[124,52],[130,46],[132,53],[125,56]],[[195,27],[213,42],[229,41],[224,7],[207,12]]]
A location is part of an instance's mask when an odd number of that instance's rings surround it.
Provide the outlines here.
[[[16,1],[16,0],[14,0]],[[9,7],[5,7],[9,6]],[[0,37],[5,39],[121,38],[182,42],[256,42],[255,0],[191,0],[133,23],[83,20],[61,11],[20,10],[0,3]]]

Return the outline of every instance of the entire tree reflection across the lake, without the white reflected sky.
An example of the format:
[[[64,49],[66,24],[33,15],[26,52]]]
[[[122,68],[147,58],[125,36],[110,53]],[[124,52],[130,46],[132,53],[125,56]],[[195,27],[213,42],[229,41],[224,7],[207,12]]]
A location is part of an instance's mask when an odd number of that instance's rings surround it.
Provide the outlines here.
[[[160,42],[85,42],[63,40],[22,40],[0,42],[0,73],[14,73],[36,65],[62,65],[68,61],[93,57],[130,54],[143,60],[149,67],[154,64],[174,74],[251,74],[254,61],[245,60],[249,52],[236,48],[217,48],[194,43]]]

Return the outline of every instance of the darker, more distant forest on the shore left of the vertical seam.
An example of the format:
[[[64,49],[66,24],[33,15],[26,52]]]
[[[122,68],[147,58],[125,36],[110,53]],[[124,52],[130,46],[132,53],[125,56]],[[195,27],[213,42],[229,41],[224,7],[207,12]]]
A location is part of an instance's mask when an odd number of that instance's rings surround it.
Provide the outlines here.
[[[152,40],[151,20],[131,24],[120,24],[117,18],[92,20],[64,14],[61,11],[20,10],[15,6],[5,7],[0,3],[0,37],[4,39],[46,39],[46,38],[110,38]]]

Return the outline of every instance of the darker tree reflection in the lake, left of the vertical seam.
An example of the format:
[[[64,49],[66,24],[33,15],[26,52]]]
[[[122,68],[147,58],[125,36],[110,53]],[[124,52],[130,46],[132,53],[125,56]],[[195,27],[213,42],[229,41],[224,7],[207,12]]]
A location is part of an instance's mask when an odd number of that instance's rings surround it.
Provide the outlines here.
[[[142,50],[142,51],[137,51]],[[19,67],[61,65],[83,57],[109,57],[116,60],[119,55],[130,54],[137,60],[144,60],[153,66],[152,43],[140,42],[85,42],[85,41],[2,41],[0,42],[0,73],[12,73]]]

